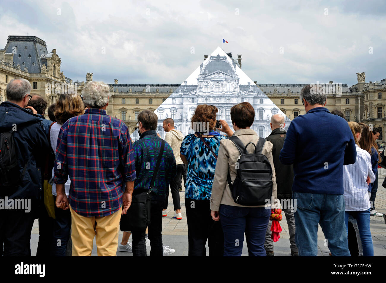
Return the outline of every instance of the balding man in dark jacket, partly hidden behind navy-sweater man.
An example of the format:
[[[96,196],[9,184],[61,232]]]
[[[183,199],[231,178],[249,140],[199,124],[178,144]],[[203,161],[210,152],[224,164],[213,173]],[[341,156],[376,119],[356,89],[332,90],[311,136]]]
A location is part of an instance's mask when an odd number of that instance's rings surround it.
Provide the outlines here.
[[[278,185],[278,199],[282,204],[282,211],[286,215],[286,220],[289,230],[289,243],[291,244],[291,256],[298,256],[298,248],[295,243],[295,218],[293,215],[293,200],[292,200],[292,182],[293,182],[293,166],[284,165],[279,160],[280,151],[283,148],[286,131],[284,130],[284,116],[276,114],[271,117],[271,134],[266,137],[267,141],[272,142],[272,157],[275,167],[276,184]],[[267,256],[273,256],[273,240],[271,239],[272,220],[269,220],[266,233],[266,241],[264,248]]]

